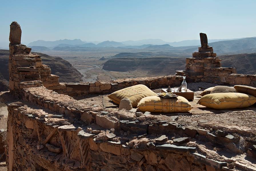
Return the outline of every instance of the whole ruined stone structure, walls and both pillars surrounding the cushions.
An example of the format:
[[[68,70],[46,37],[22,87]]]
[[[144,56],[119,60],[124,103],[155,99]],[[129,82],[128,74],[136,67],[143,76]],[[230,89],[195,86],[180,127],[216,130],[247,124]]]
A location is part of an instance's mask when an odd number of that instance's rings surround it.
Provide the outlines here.
[[[108,110],[71,97],[107,94],[136,84],[176,86],[180,75],[227,85],[256,83],[255,75],[221,68],[211,47],[199,48],[177,75],[74,84],[59,83],[20,38],[20,26],[13,22],[10,90],[20,100],[8,105],[9,171],[255,170],[255,129],[203,123],[196,128],[176,123],[173,116],[149,112],[138,116],[136,110]]]

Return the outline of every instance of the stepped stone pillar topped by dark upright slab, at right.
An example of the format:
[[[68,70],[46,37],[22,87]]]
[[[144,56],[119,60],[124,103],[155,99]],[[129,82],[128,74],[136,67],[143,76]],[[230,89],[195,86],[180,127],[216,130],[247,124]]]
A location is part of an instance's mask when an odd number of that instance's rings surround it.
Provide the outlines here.
[[[176,75],[188,76],[189,82],[211,82],[228,84],[226,76],[236,74],[235,68],[221,67],[221,59],[213,53],[213,48],[208,46],[207,36],[200,33],[201,47],[198,52],[193,53],[193,57],[186,59],[185,71],[177,71]]]

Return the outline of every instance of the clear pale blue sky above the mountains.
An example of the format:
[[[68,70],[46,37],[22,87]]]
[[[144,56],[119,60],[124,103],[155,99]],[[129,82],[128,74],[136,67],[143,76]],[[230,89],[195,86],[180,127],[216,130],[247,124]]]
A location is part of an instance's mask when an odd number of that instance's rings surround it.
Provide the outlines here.
[[[1,1],[0,47],[9,46],[12,21],[21,42],[81,39],[117,42],[162,39],[166,42],[256,36],[255,0],[26,0]]]

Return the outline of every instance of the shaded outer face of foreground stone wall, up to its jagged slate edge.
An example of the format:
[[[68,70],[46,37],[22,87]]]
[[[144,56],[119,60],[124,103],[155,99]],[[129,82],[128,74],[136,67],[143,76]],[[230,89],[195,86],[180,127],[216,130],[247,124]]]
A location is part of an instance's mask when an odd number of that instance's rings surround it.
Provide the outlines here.
[[[155,143],[145,138],[116,137],[95,124],[69,123],[49,110],[27,103],[8,106],[8,170],[219,170],[226,162],[199,155],[195,147]],[[50,120],[55,120],[51,122]],[[50,122],[49,122],[50,121]],[[131,138],[131,137],[130,137]],[[121,140],[121,141],[120,141]],[[136,141],[135,141],[136,140]],[[49,145],[48,145],[49,144]]]

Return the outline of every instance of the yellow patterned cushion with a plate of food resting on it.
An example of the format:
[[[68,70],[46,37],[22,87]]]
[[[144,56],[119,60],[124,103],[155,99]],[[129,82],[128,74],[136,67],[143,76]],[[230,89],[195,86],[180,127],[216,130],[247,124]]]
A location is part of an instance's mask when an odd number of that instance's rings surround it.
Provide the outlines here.
[[[163,98],[159,96],[144,97],[137,106],[143,112],[153,113],[178,113],[188,112],[192,109],[191,104],[182,96],[177,98]]]

